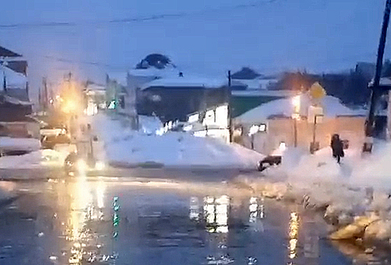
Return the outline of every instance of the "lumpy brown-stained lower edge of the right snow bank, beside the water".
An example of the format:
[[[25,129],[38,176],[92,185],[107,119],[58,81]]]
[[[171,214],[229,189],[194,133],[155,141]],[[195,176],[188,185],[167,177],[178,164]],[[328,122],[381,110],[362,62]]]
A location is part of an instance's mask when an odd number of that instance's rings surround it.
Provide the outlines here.
[[[375,192],[373,199],[365,188],[335,181],[285,181],[239,178],[253,192],[263,197],[300,204],[324,214],[334,226],[330,239],[391,239],[391,199],[384,192]]]

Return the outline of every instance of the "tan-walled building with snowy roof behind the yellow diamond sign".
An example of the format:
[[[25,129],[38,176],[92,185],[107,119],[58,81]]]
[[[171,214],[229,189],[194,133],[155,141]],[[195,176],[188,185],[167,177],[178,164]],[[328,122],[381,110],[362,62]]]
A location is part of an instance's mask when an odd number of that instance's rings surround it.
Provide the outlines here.
[[[309,151],[314,135],[319,148],[327,147],[335,133],[348,140],[351,148],[360,148],[366,114],[365,109],[350,109],[332,96],[314,104],[311,96],[303,93],[272,100],[236,117],[233,135],[236,142],[264,154],[273,153],[281,144],[296,144]]]

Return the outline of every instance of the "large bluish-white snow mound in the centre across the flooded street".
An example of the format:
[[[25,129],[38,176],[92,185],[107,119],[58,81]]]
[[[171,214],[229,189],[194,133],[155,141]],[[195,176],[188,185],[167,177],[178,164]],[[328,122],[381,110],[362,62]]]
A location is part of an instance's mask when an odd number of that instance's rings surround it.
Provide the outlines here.
[[[93,117],[93,130],[105,142],[109,162],[137,165],[145,162],[167,167],[233,167],[255,169],[263,156],[219,139],[194,137],[185,132],[156,135],[160,121],[140,117],[141,130],[135,132],[121,126],[121,119],[99,114]]]

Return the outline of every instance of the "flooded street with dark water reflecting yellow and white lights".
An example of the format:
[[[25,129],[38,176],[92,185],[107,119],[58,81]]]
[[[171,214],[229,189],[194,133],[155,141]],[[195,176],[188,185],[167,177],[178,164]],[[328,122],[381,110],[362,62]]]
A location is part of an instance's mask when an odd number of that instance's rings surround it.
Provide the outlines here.
[[[352,264],[319,216],[229,183],[1,181],[0,264]]]

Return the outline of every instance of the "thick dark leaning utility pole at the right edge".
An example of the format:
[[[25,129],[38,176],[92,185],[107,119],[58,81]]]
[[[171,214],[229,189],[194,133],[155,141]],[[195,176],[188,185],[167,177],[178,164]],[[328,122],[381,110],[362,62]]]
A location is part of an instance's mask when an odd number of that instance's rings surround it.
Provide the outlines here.
[[[369,106],[368,119],[365,124],[365,136],[374,137],[374,127],[375,127],[375,109],[378,104],[378,98],[381,96],[380,79],[381,79],[381,69],[383,67],[383,55],[385,47],[385,37],[387,35],[388,23],[390,21],[390,10],[391,10],[391,0],[386,0],[385,10],[383,17],[383,25],[381,28],[381,36],[378,44],[378,55],[376,61],[376,72],[374,77],[374,83],[371,86],[371,105]],[[370,146],[370,147],[369,147]],[[363,151],[371,151],[371,143],[365,142]]]

